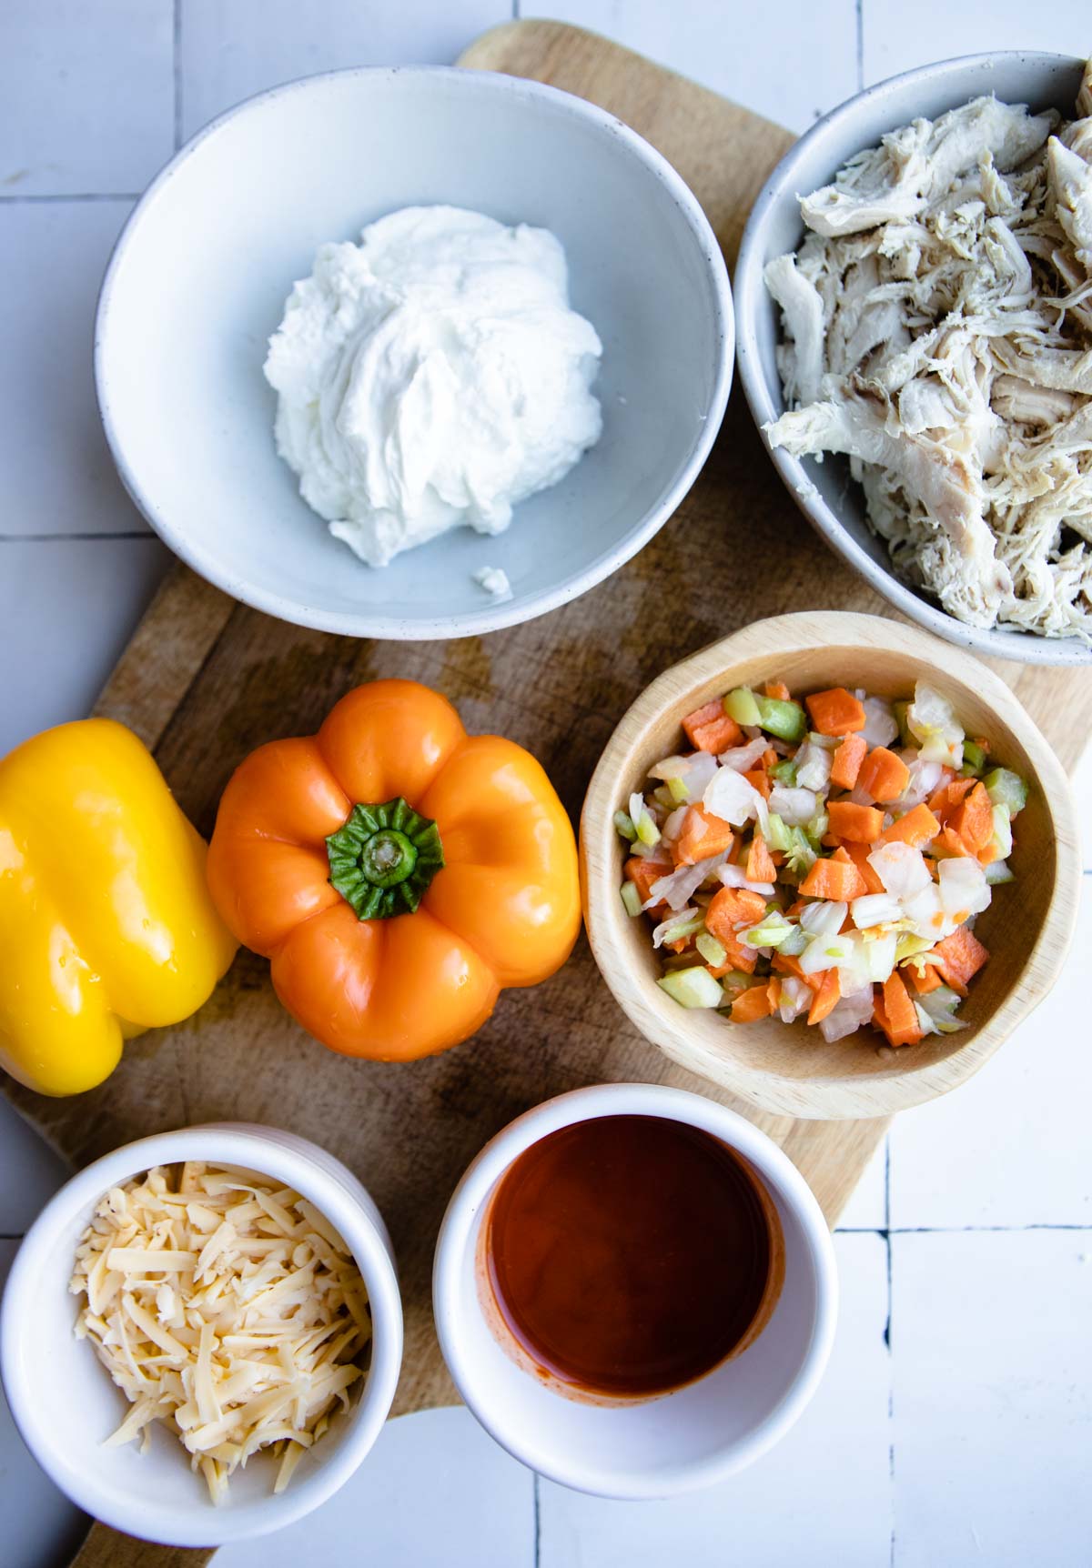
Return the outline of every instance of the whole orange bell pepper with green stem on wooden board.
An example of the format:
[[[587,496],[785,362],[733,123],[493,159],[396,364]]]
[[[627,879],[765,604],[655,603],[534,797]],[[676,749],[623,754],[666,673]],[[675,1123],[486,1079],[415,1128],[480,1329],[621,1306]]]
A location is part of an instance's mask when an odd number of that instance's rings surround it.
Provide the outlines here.
[[[408,1062],[537,985],[581,928],[573,828],[540,764],[442,696],[373,681],[237,768],[209,848],[224,922],[333,1051]]]

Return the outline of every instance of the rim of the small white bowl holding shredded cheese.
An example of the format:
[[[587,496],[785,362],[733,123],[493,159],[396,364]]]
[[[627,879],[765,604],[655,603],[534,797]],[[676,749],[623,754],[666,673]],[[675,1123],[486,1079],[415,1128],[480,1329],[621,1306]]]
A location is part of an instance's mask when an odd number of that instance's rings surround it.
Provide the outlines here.
[[[287,1491],[271,1491],[235,1508],[198,1510],[165,1507],[147,1494],[119,1499],[104,1493],[86,1474],[58,1454],[35,1414],[30,1370],[20,1355],[27,1322],[35,1312],[35,1284],[56,1245],[58,1229],[91,1210],[108,1187],[151,1165],[185,1159],[215,1159],[245,1165],[293,1185],[329,1218],[348,1243],[372,1308],[372,1359],[364,1388],[345,1419],[328,1458],[311,1474],[297,1475]],[[353,1187],[361,1185],[348,1167],[318,1145],[279,1127],[248,1123],[209,1123],[157,1132],[126,1143],[78,1171],[46,1204],[24,1237],[11,1265],[0,1308],[0,1374],[11,1414],[24,1443],[39,1466],[77,1507],[127,1535],[169,1546],[223,1546],[228,1541],[267,1535],[293,1524],[331,1497],[355,1474],[375,1444],[394,1402],[402,1369],[402,1297],[388,1251],[386,1226],[359,1206]],[[367,1192],[367,1189],[364,1189]],[[369,1195],[370,1196],[370,1195]],[[89,1353],[89,1352],[88,1352]],[[102,1374],[108,1374],[104,1370]],[[185,1461],[179,1446],[179,1463]]]

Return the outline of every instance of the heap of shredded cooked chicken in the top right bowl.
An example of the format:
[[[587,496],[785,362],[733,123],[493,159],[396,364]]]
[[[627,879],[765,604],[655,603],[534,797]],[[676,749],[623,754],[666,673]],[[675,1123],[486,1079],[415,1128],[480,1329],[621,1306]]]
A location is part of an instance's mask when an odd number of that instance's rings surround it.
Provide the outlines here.
[[[844,453],[949,615],[1092,643],[1092,61],[1076,114],[976,99],[800,201],[764,430]]]

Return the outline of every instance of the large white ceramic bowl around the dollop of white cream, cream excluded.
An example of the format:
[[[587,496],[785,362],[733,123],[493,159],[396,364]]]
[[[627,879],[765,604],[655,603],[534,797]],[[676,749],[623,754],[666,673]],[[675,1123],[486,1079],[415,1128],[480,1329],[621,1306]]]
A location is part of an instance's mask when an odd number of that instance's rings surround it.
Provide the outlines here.
[[[278,458],[262,362],[323,240],[430,202],[559,235],[604,343],[604,434],[507,533],[458,528],[372,571]],[[731,365],[728,273],[675,169],[582,99],[438,67],[311,77],[213,121],[129,220],[96,325],[107,437],[165,543],[259,610],[356,637],[490,632],[601,582],[693,483]],[[472,582],[486,564],[510,602]]]

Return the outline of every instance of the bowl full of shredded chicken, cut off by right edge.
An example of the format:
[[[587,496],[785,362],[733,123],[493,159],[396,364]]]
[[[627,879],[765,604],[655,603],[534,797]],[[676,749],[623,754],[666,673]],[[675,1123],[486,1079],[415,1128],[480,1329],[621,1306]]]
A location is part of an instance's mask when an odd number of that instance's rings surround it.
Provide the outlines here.
[[[772,176],[736,289],[752,412],[830,543],[951,640],[1092,659],[1092,64],[852,99]]]

